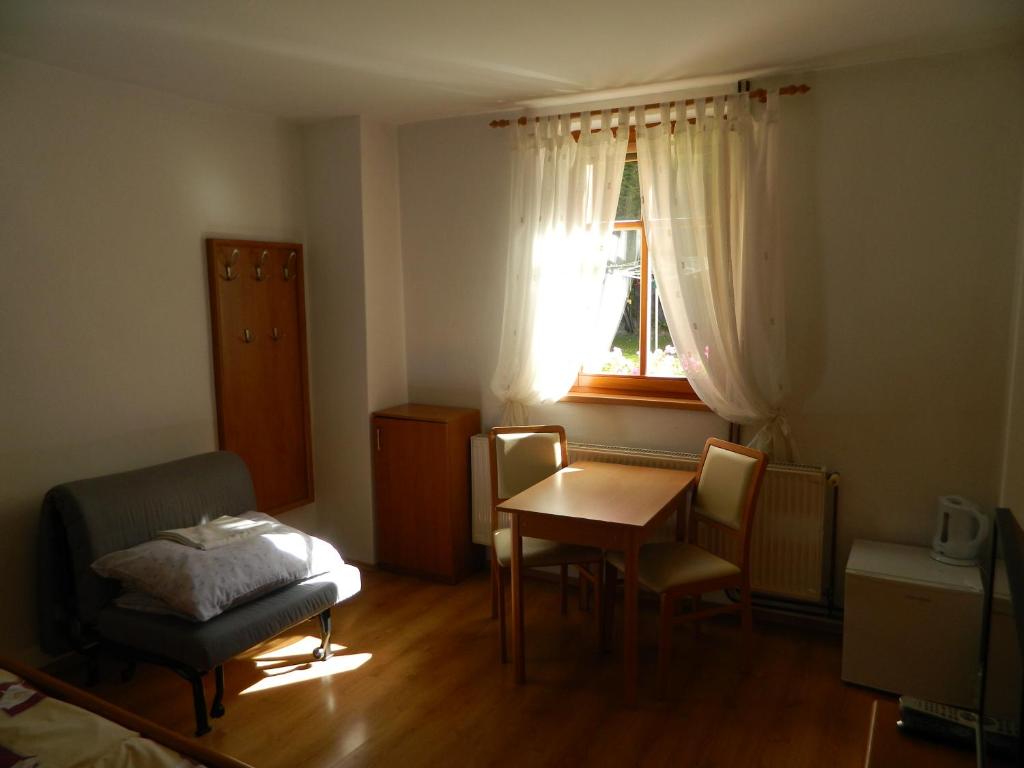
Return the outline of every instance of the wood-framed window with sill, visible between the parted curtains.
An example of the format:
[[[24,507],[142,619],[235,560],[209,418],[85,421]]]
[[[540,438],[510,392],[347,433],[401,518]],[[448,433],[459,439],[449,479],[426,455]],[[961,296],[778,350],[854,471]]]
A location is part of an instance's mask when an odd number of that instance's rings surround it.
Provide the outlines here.
[[[706,409],[683,373],[647,259],[635,153],[627,157],[623,171],[615,238],[608,279],[620,283],[625,304],[614,338],[602,356],[584,365],[563,400]],[[617,312],[618,301],[612,303],[611,311]]]

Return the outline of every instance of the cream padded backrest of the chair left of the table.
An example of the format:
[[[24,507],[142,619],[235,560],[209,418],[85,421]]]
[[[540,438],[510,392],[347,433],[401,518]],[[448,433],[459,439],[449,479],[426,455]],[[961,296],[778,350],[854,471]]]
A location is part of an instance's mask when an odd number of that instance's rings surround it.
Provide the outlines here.
[[[494,427],[490,447],[490,529],[498,527],[498,505],[568,464],[565,428],[557,424]]]

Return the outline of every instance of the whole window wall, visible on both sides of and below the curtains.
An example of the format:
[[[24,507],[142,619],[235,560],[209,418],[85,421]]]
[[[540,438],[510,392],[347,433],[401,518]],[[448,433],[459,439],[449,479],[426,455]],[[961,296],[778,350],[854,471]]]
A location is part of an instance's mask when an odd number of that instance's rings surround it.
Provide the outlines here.
[[[1024,116],[1021,50],[835,70],[785,98],[790,399],[857,537],[925,543],[939,494],[996,501]],[[399,131],[412,399],[482,408],[501,327],[508,131]],[[561,404],[573,438],[695,450],[707,414]],[[840,582],[842,579],[839,580]]]

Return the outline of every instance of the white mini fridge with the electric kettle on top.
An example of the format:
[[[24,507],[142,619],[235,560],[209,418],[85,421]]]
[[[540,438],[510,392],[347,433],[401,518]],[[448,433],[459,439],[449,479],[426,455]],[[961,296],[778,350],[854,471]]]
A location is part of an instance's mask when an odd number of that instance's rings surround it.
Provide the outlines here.
[[[978,567],[937,562],[924,547],[854,542],[843,680],[976,708],[983,597]]]

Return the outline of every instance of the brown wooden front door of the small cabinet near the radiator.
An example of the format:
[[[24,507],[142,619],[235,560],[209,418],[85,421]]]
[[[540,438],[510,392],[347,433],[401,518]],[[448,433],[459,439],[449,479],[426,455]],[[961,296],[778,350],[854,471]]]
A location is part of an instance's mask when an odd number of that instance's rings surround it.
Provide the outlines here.
[[[374,419],[377,557],[403,570],[451,578],[446,430]]]

